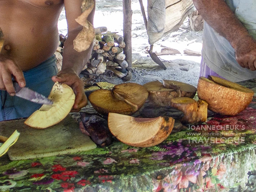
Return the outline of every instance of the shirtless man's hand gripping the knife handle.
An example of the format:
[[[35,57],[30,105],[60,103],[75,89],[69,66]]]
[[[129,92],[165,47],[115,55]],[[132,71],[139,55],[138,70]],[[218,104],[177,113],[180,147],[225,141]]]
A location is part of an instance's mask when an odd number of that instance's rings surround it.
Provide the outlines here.
[[[7,91],[11,96],[15,95],[12,77],[20,87],[26,86],[22,70],[11,60],[0,55],[0,90]]]

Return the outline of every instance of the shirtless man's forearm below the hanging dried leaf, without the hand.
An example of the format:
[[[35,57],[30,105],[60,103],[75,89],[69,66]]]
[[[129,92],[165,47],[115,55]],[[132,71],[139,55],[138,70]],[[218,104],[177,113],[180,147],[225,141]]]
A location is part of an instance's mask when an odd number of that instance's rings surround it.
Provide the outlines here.
[[[83,70],[83,67],[86,65],[89,60],[92,52],[92,44],[86,50],[82,52],[77,52],[74,49],[73,40],[77,34],[82,30],[78,29],[77,31],[69,32],[68,38],[65,41],[64,51],[63,51],[63,61],[61,70],[73,69],[78,75]]]

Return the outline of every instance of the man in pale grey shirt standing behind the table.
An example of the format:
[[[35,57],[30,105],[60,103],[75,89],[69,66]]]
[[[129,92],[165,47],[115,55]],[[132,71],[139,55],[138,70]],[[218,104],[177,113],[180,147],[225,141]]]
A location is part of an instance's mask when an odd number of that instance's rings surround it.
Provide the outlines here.
[[[256,1],[193,2],[205,20],[200,76],[256,78]]]

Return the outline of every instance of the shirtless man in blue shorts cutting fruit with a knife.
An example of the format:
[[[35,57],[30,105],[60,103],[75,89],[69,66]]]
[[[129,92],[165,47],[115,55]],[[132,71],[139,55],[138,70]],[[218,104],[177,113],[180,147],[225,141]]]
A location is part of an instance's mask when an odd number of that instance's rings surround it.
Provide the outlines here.
[[[45,96],[54,82],[68,84],[75,93],[73,111],[87,104],[78,75],[87,63],[92,45],[82,52],[73,49],[73,40],[83,28],[75,21],[82,14],[81,3],[82,0],[0,0],[0,27],[5,39],[0,53],[0,121],[28,117],[41,106],[14,96],[12,77],[20,87]],[[53,55],[59,42],[58,17],[64,6],[68,38],[62,70],[57,74]],[[94,11],[87,18],[91,23]]]

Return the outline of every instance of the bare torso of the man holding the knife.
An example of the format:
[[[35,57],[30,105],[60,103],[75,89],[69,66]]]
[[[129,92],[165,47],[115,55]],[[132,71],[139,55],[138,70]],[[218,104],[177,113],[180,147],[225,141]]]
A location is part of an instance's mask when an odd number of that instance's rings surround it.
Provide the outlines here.
[[[47,60],[58,45],[57,22],[63,6],[63,0],[0,0],[5,39],[1,54],[23,71]]]

